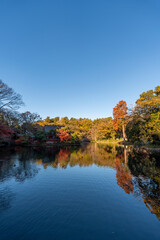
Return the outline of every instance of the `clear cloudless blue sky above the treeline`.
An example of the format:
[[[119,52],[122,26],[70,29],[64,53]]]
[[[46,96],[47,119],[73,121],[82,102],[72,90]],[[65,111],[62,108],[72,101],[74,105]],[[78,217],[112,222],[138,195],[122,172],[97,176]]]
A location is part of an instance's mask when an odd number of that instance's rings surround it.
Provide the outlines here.
[[[160,85],[160,1],[0,0],[0,79],[21,111],[111,116]]]

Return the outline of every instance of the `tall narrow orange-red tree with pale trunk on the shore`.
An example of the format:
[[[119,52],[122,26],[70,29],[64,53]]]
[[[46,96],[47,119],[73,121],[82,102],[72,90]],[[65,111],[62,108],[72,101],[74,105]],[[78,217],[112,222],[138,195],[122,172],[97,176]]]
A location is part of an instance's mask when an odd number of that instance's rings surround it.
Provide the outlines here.
[[[123,100],[113,108],[113,128],[115,131],[122,131],[123,139],[126,139],[125,125],[127,116],[127,103]]]

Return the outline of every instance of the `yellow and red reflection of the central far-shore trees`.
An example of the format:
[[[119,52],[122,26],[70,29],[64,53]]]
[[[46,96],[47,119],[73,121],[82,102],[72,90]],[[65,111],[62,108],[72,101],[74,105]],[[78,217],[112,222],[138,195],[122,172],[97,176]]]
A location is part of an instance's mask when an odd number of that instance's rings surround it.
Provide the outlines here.
[[[60,149],[45,150],[45,156],[37,157],[36,163],[43,164],[44,168],[66,168],[67,166],[110,166],[114,168],[116,149],[113,146],[89,144],[83,147],[64,147]],[[50,153],[50,158],[49,158]],[[48,161],[44,161],[48,159]]]

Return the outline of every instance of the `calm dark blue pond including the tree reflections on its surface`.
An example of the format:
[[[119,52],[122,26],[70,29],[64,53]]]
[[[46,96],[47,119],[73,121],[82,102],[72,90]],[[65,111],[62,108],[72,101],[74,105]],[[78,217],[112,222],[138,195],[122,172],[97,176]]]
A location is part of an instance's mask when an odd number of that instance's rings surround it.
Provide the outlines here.
[[[160,156],[90,144],[0,151],[0,239],[160,239]]]

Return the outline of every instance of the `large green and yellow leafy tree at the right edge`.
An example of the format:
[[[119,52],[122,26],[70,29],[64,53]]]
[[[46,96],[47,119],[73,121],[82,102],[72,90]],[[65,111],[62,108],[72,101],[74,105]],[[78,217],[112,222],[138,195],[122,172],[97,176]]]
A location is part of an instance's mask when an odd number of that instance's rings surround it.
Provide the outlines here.
[[[140,94],[126,127],[127,138],[133,143],[160,141],[160,86]]]

